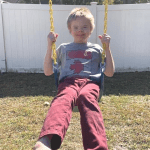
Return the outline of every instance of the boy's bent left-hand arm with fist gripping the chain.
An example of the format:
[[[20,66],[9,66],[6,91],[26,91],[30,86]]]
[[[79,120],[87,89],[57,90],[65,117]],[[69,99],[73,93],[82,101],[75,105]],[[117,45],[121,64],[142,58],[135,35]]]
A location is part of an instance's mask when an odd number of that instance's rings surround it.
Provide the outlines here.
[[[50,76],[53,74],[53,60],[52,60],[52,43],[56,41],[58,34],[50,32],[47,36],[47,52],[44,59],[44,74]]]

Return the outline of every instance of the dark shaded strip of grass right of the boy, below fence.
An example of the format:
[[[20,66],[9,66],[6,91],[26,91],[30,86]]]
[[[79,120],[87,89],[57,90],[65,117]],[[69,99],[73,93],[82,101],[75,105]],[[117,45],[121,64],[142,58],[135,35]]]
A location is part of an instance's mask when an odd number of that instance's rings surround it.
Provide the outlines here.
[[[105,77],[106,95],[150,95],[150,72],[115,73]]]

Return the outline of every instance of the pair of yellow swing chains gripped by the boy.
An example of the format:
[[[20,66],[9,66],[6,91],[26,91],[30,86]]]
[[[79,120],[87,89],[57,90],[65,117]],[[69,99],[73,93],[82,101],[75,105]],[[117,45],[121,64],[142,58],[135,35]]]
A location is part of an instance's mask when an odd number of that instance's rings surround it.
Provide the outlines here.
[[[107,32],[107,12],[108,12],[108,0],[105,0],[104,2],[105,4],[105,17],[104,17],[104,34],[106,34]],[[54,20],[53,20],[53,9],[52,9],[52,0],[49,0],[49,14],[50,14],[50,31],[54,32]],[[56,59],[57,59],[57,55],[56,55],[56,44],[55,42],[53,42],[52,44],[52,50],[53,50],[53,60],[54,60],[54,64],[56,64]],[[104,60],[105,60],[105,50],[106,50],[106,44],[103,44],[103,52],[102,52],[102,64],[104,64]]]

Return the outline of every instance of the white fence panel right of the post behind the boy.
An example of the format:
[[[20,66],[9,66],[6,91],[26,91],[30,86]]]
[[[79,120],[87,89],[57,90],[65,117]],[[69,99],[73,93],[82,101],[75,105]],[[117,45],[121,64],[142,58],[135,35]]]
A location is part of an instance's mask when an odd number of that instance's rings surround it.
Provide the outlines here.
[[[103,33],[104,7],[97,6],[97,31]],[[150,71],[150,5],[110,5],[108,34],[116,71]]]

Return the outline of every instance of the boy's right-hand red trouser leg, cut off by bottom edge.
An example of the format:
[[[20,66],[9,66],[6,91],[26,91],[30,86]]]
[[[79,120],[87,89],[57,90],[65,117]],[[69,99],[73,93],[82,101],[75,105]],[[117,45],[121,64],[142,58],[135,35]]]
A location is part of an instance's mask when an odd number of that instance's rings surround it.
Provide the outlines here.
[[[98,96],[99,86],[87,82],[77,99],[85,150],[108,150],[103,118],[97,101]]]

